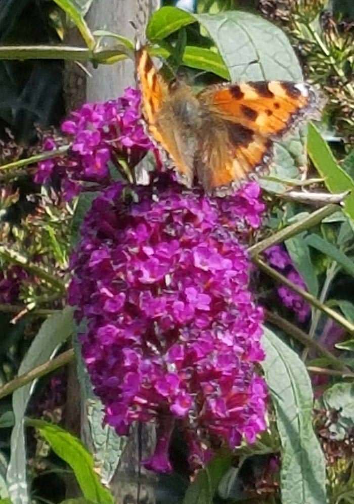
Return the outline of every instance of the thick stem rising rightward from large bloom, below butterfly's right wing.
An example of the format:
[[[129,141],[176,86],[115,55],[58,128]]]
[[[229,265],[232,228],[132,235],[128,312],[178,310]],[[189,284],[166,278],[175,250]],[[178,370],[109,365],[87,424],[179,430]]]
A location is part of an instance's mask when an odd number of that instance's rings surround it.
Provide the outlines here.
[[[308,230],[310,227],[315,226],[316,224],[321,222],[325,217],[332,215],[332,213],[337,212],[339,209],[340,207],[338,205],[334,204],[326,205],[325,207],[316,210],[315,212],[313,212],[311,215],[304,218],[300,222],[294,222],[293,224],[290,224],[284,229],[278,231],[277,233],[274,233],[274,235],[265,238],[265,240],[262,240],[261,242],[252,245],[251,247],[248,248],[247,251],[250,257],[255,257],[260,252],[263,252],[263,250],[268,249],[272,245],[282,243],[285,240],[288,240],[289,238],[298,235],[302,231]]]

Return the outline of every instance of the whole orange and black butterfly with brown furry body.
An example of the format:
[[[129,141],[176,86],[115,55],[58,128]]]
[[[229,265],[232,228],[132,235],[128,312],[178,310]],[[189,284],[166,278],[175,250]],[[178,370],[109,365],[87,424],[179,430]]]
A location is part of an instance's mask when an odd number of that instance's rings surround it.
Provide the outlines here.
[[[147,49],[136,52],[148,133],[169,155],[180,181],[195,177],[208,194],[224,195],[269,169],[274,141],[319,108],[306,83],[255,81],[205,87],[167,82]]]

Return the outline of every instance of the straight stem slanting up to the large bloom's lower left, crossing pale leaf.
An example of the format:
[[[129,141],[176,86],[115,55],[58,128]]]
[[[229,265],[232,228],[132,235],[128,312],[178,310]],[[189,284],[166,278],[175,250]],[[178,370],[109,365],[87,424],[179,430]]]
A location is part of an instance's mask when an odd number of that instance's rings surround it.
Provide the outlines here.
[[[31,369],[27,373],[11,380],[11,382],[7,383],[3,387],[0,387],[0,399],[3,397],[12,394],[15,390],[24,387],[27,383],[40,378],[41,376],[48,375],[52,371],[55,371],[58,368],[68,364],[74,358],[74,350],[70,348],[66,352],[61,353],[58,357],[48,360],[44,364],[37,366],[36,368]]]

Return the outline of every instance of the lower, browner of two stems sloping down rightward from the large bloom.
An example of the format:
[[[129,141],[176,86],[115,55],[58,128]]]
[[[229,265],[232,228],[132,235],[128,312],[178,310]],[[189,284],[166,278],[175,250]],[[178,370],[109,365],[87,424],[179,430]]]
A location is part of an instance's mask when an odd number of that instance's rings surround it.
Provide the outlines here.
[[[304,331],[302,331],[300,328],[295,326],[294,324],[291,324],[291,322],[288,322],[285,318],[281,317],[277,313],[274,313],[273,311],[265,310],[265,317],[267,318],[268,322],[273,324],[274,326],[279,327],[279,329],[282,329],[284,332],[289,334],[292,338],[296,339],[302,345],[308,348],[314,349],[318,354],[323,355],[328,359],[329,362],[333,365],[334,368],[339,369],[346,374],[351,374],[354,376],[354,373],[352,373],[343,362],[333,355],[327,348],[325,348],[323,345],[318,343],[318,341],[310,338]]]

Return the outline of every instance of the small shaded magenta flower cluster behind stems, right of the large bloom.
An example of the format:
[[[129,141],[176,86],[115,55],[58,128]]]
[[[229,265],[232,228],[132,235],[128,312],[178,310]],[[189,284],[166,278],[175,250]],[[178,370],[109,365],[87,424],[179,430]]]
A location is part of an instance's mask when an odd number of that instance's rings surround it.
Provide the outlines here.
[[[293,266],[292,260],[286,251],[284,245],[274,245],[264,252],[268,258],[268,262],[281,271],[293,284],[306,289],[306,284],[301,275]],[[299,322],[305,322],[311,313],[311,307],[308,303],[296,292],[284,285],[277,288],[278,295],[284,306],[295,313]]]

